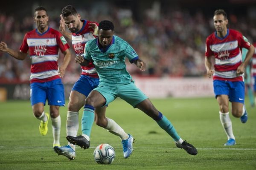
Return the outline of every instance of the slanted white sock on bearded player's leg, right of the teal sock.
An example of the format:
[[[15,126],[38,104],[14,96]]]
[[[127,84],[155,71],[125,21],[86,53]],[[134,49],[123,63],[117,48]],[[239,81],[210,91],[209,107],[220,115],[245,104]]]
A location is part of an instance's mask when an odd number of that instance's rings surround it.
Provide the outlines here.
[[[105,127],[110,133],[113,133],[116,136],[119,136],[121,140],[128,139],[129,135],[112,119],[108,119],[108,125]]]

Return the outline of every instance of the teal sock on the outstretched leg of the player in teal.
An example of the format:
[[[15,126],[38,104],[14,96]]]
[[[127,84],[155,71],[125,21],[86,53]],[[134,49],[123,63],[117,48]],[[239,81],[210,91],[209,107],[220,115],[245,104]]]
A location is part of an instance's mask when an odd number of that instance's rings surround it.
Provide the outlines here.
[[[180,139],[180,136],[178,135],[177,131],[175,130],[172,123],[166,118],[166,116],[163,116],[163,118],[159,121],[157,121],[157,124],[165,130],[175,141],[178,141]]]

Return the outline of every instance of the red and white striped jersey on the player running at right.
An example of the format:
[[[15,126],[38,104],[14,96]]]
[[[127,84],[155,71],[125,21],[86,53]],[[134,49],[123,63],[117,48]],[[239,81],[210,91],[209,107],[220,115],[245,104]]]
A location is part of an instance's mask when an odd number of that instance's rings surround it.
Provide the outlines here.
[[[236,74],[242,63],[241,48],[250,48],[250,42],[243,39],[243,35],[236,30],[227,29],[224,38],[212,33],[206,39],[206,57],[215,57],[213,79],[228,81],[243,81],[243,75]]]

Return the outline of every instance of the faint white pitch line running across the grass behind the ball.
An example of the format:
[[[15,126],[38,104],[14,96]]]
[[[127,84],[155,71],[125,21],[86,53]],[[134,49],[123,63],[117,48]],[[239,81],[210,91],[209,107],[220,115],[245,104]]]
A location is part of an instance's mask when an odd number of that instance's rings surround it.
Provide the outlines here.
[[[9,148],[6,146],[0,146],[0,148]],[[11,148],[11,147],[10,147]],[[25,146],[19,146],[19,147],[12,147],[12,148],[26,148],[26,149],[35,149],[35,148],[49,148],[49,147],[25,147]],[[77,146],[77,148],[80,148],[79,146]],[[94,149],[96,148],[95,146],[90,147],[89,149]],[[116,148],[121,148],[121,147],[116,147]],[[149,147],[134,147],[134,149],[151,149]],[[166,149],[164,147],[157,147],[154,149]],[[168,150],[177,150],[180,148],[168,148]],[[205,148],[196,148],[197,150],[256,150],[256,148],[231,148],[231,147],[227,147],[227,148],[213,148],[213,147],[205,147]]]

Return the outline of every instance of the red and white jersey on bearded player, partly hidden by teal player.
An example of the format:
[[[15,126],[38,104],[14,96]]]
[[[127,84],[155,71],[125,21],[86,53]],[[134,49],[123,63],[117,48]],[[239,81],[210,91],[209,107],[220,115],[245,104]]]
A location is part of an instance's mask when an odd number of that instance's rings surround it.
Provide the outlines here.
[[[72,33],[72,46],[76,51],[76,56],[84,54],[84,46],[86,42],[96,38],[96,36],[90,33],[90,31],[93,31],[93,29],[89,28],[90,26],[89,23],[95,23],[95,22],[90,22],[87,20],[81,20],[81,21],[84,23],[81,30],[76,33]],[[99,25],[98,23],[96,24],[97,26]],[[93,62],[90,62],[89,65],[85,67],[81,66],[81,68],[82,68],[81,74],[84,74],[90,77],[99,77],[93,65]]]

